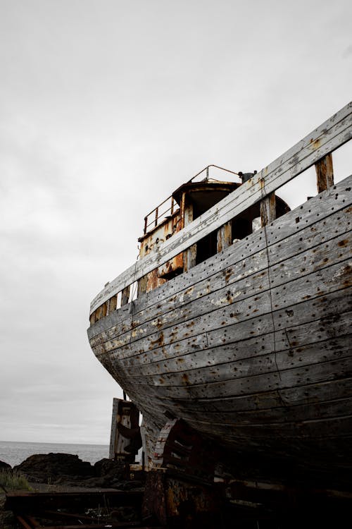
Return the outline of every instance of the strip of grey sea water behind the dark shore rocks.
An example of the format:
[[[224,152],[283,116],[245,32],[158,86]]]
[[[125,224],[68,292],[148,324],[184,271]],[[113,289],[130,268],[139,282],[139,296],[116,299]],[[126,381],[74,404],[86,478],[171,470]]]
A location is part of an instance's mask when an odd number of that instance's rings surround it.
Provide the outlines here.
[[[0,461],[12,467],[19,465],[33,454],[77,454],[82,461],[96,463],[108,457],[109,447],[105,444],[54,444],[54,443],[25,443],[0,441]]]

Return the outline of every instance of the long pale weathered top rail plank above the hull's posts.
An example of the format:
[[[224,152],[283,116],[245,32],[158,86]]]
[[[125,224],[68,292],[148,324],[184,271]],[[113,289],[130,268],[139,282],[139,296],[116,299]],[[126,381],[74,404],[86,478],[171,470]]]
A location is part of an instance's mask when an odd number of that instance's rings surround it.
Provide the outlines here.
[[[325,157],[326,154],[350,140],[352,137],[351,108],[352,103],[349,103],[282,157],[262,169],[249,181],[239,186],[237,190],[227,195],[221,202],[208,209],[189,226],[165,241],[156,253],[147,255],[143,260],[132,265],[123,274],[111,281],[92,301],[91,313],[115,293],[122,291],[125,286],[161,266],[180,251],[186,250],[199,241],[210,231],[220,228],[247,207],[261,200],[263,193],[268,195],[274,192],[284,183],[289,182],[315,162],[318,162],[319,159]],[[265,188],[264,192],[263,188]]]

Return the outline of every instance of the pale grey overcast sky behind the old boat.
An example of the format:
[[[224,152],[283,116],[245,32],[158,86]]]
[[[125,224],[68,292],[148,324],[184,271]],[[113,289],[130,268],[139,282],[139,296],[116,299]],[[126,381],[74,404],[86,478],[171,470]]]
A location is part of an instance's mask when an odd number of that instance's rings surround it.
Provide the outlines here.
[[[108,444],[90,301],[181,183],[260,170],[348,103],[351,6],[0,0],[1,440]]]

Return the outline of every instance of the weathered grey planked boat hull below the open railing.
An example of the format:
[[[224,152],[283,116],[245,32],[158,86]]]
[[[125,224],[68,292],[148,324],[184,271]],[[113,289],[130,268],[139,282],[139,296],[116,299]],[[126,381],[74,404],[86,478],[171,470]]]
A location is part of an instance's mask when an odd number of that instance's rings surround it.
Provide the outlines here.
[[[168,413],[249,471],[262,456],[351,470],[351,188],[349,177],[92,324],[150,446]]]

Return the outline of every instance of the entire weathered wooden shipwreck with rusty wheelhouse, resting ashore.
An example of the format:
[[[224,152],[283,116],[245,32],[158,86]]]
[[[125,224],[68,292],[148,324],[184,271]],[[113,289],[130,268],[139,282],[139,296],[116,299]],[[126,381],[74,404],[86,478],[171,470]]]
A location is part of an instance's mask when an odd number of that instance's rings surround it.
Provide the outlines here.
[[[332,152],[351,109],[258,173],[184,183],[92,300],[89,343],[142,413],[146,470],[349,482],[352,176],[334,183]],[[314,165],[317,194],[290,211],[276,193]]]

